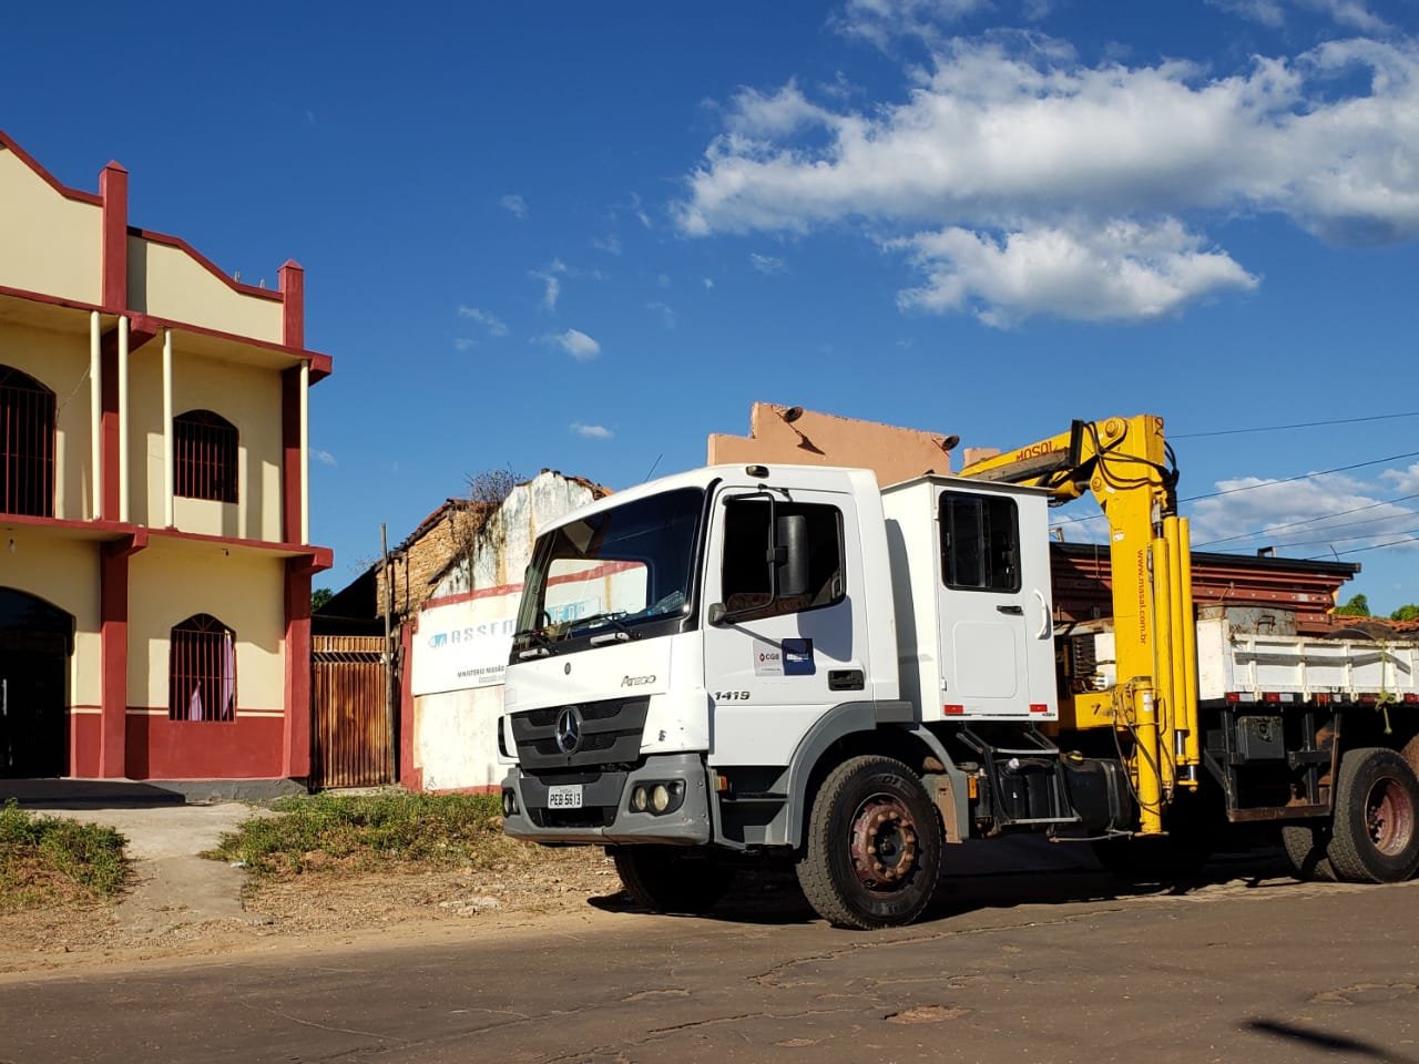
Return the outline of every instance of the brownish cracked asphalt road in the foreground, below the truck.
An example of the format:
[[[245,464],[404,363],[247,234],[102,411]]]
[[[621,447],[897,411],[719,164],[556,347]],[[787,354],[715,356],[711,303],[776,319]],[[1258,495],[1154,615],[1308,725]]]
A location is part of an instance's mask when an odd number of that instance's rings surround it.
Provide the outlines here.
[[[532,928],[7,977],[0,1061],[1419,1064],[1419,882],[968,877],[885,933],[745,897],[715,919],[600,899]]]

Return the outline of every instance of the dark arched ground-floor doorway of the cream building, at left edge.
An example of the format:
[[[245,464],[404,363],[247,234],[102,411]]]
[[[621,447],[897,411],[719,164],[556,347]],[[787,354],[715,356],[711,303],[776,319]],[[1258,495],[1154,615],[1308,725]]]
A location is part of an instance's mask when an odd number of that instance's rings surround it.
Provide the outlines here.
[[[72,653],[74,617],[0,587],[0,779],[68,775]]]

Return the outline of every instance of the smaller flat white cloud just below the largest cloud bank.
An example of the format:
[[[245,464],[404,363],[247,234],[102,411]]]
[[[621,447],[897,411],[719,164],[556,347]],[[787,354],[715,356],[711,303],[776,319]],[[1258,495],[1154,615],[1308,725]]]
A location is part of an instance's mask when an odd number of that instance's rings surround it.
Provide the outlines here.
[[[1148,321],[1210,292],[1257,284],[1175,220],[1155,227],[1115,221],[1077,231],[1043,227],[999,240],[952,227],[905,243],[927,282],[898,297],[902,308],[973,308],[981,321],[998,328],[1036,314],[1087,322]]]

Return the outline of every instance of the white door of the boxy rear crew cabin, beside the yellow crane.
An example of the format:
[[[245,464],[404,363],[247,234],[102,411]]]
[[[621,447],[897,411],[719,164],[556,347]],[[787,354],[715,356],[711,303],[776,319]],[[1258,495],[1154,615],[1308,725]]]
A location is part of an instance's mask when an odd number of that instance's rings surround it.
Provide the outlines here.
[[[1025,538],[1022,509],[1030,518]],[[1054,718],[1043,515],[1044,501],[1030,495],[944,489],[937,499],[941,702],[946,718]]]

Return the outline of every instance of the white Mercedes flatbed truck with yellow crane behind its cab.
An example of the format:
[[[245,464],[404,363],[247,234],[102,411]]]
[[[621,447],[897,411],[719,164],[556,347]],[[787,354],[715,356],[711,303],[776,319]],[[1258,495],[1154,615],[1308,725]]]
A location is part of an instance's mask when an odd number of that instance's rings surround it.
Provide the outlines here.
[[[1410,877],[1419,647],[1199,616],[1175,485],[1139,416],[885,489],[724,465],[565,516],[507,672],[507,833],[604,846],[660,911],[788,858],[846,928],[912,921],[945,847],[1015,831],[1166,874],[1276,821],[1298,875]],[[1084,494],[1112,616],[1063,626],[1047,514]]]

